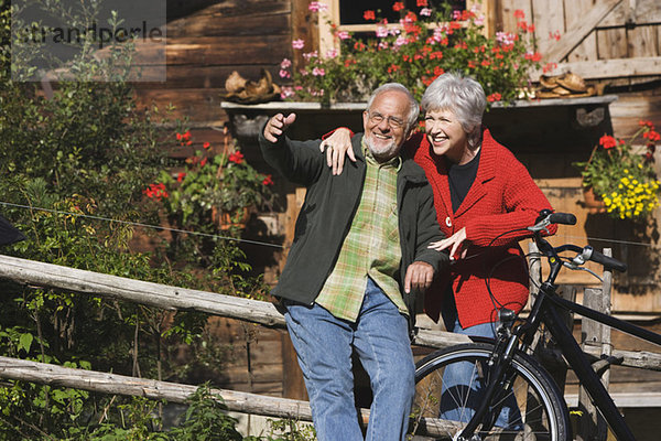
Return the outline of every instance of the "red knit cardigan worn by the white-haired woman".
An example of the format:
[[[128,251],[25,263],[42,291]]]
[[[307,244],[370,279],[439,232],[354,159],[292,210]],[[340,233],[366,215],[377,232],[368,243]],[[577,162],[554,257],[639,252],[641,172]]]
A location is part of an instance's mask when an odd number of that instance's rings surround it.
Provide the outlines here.
[[[449,271],[438,275],[425,294],[425,312],[438,321],[445,287],[452,282],[462,327],[495,321],[495,303],[517,312],[523,308],[529,293],[528,265],[518,241],[530,234],[502,234],[533,225],[541,209],[551,208],[525,166],[496,142],[489,130],[483,130],[477,175],[456,213],[452,209],[445,159],[434,154],[424,133],[414,135],[404,146],[432,185],[443,233],[449,237],[466,227],[466,258],[457,259]],[[487,280],[495,301],[489,297]]]

